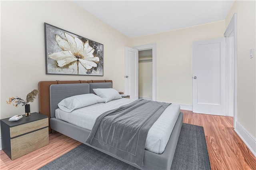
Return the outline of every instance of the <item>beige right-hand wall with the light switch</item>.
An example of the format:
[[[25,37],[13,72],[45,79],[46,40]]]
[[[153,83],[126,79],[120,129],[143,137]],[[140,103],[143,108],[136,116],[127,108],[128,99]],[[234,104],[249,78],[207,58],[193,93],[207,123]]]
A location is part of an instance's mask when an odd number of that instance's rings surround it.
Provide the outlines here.
[[[237,13],[237,109],[238,122],[256,138],[256,9],[255,1],[235,1],[228,13],[228,26]],[[250,59],[250,49],[254,58]]]

